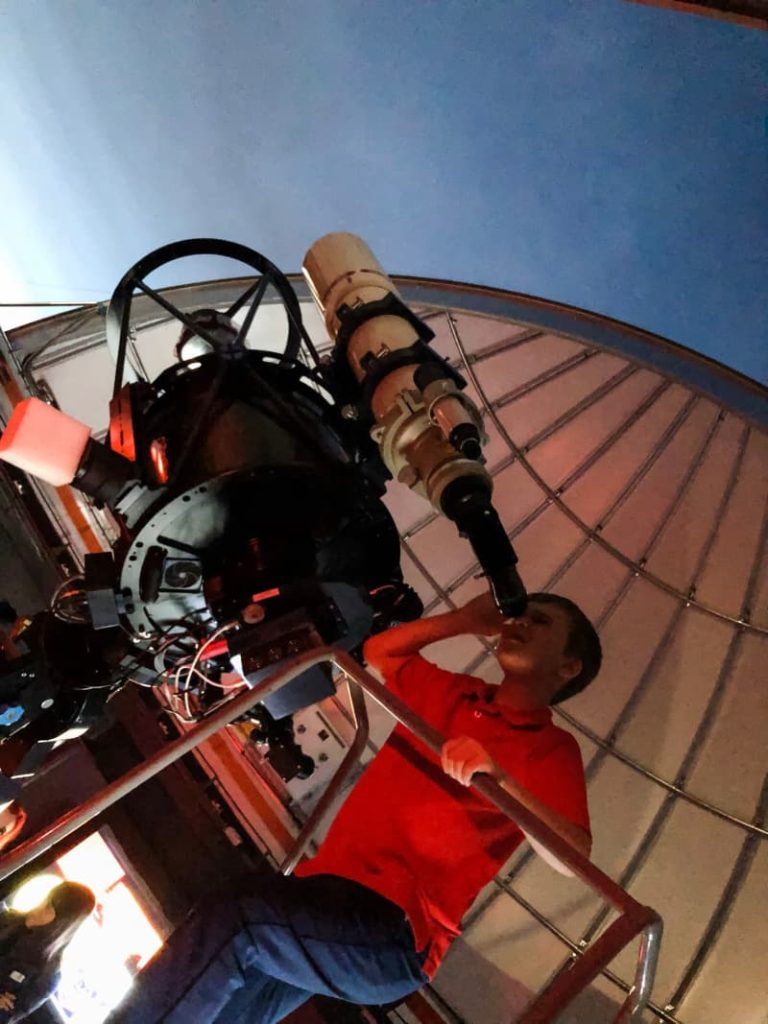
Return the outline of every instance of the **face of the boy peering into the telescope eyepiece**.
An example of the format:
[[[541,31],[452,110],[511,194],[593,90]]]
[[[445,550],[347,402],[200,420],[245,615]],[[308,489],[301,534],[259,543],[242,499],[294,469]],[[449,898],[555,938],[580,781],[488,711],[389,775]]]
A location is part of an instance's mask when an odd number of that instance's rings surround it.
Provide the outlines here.
[[[565,653],[569,633],[564,608],[531,601],[524,615],[505,622],[496,648],[499,665],[510,676],[551,685],[554,695],[582,668],[578,657]]]

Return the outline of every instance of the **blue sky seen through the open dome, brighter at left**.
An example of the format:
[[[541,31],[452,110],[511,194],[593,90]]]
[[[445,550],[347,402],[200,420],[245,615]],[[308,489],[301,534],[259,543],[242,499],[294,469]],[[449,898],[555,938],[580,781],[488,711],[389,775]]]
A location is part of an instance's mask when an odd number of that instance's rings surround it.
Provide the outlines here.
[[[768,377],[766,33],[625,0],[3,0],[0,52],[0,301],[106,297],[201,234],[295,270],[345,229]]]

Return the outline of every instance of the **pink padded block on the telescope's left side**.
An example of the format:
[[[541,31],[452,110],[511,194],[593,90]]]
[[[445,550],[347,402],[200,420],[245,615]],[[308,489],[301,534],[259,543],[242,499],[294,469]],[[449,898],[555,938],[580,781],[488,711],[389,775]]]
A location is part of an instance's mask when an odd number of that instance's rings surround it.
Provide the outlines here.
[[[0,437],[0,459],[59,487],[74,480],[90,435],[80,420],[39,398],[25,398]]]

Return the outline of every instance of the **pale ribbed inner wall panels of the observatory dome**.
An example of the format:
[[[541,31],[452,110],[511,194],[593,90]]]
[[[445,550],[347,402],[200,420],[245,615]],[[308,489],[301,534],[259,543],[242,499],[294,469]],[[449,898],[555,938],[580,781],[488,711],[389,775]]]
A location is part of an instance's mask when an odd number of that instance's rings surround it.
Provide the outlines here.
[[[582,310],[395,281],[483,411],[495,501],[528,589],[570,597],[600,632],[600,677],[556,714],[582,748],[594,861],[665,918],[646,1019],[765,1024],[768,392]],[[313,341],[327,347],[303,282],[293,283]],[[245,285],[167,294],[182,309],[225,306]],[[136,365],[156,375],[175,336],[150,300],[137,300],[137,312]],[[267,308],[249,343],[267,347],[274,330]],[[9,340],[31,388],[43,385],[66,412],[103,428],[113,364],[102,307]],[[402,487],[387,502],[403,571],[428,611],[482,588],[452,524]],[[498,678],[479,639],[430,655]],[[523,848],[470,911],[435,978],[434,1006],[446,1021],[509,1021],[607,918]],[[612,1020],[633,973],[631,955],[617,957],[562,1020]]]

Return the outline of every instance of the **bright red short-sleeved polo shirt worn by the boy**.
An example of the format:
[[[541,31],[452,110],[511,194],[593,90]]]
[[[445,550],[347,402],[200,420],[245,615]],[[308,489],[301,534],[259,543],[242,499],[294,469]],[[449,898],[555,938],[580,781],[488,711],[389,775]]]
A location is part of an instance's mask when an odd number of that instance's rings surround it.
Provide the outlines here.
[[[497,705],[497,687],[408,658],[386,684],[446,739],[472,736],[529,793],[589,830],[579,744],[546,709]],[[430,751],[397,726],[346,799],[319,852],[296,874],[338,874],[401,906],[429,945],[431,977],[477,893],[523,839],[474,790],[454,781]]]

